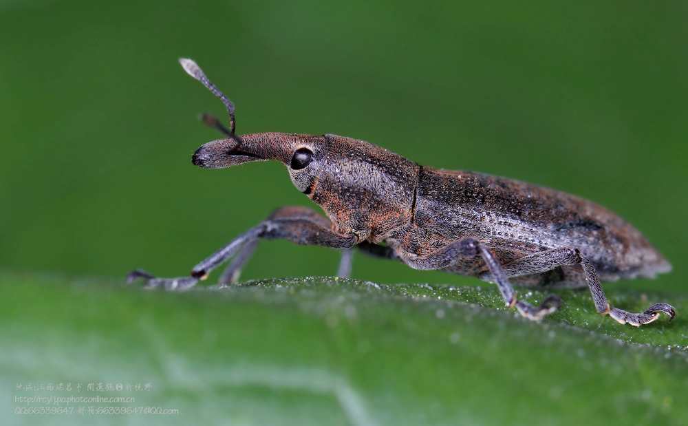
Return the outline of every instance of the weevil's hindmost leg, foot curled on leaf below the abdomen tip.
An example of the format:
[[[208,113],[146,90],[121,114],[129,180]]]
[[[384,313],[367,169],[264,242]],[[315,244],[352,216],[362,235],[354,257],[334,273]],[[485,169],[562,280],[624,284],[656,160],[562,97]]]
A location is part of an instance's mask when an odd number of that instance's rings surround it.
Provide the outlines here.
[[[674,308],[667,303],[657,303],[656,305],[650,306],[642,314],[634,314],[610,306],[607,297],[604,295],[602,286],[600,286],[599,277],[597,277],[597,272],[592,262],[574,247],[554,248],[552,250],[524,256],[514,262],[504,265],[502,268],[508,277],[517,277],[519,275],[544,273],[559,266],[577,264],[583,267],[585,281],[588,281],[588,288],[590,288],[595,308],[597,312],[602,315],[609,314],[610,317],[622,324],[629,323],[636,327],[641,326],[641,324],[651,323],[659,317],[660,312],[664,312],[669,315],[671,319],[674,319],[676,312]]]

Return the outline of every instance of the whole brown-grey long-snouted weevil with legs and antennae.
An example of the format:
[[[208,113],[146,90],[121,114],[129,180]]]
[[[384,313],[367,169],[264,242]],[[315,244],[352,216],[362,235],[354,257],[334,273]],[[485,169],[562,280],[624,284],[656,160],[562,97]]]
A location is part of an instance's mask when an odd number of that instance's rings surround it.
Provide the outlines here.
[[[186,289],[233,258],[219,278],[233,284],[259,239],[288,239],[344,250],[341,276],[350,271],[354,246],[368,255],[411,268],[442,270],[497,284],[508,308],[538,320],[561,306],[550,295],[540,306],[518,300],[512,285],[540,288],[588,286],[597,312],[619,323],[647,324],[674,308],[657,303],[635,314],[610,306],[601,281],[654,277],[671,270],[650,242],[603,206],[533,184],[467,171],[445,171],[363,140],[335,135],[235,133],[234,104],[191,59],[184,70],[224,103],[226,129],[203,117],[226,138],[202,145],[193,164],[220,169],[251,161],[286,165],[295,187],[327,218],[305,207],[283,207],[197,264],[190,277],[156,278],[133,270],[150,287]]]

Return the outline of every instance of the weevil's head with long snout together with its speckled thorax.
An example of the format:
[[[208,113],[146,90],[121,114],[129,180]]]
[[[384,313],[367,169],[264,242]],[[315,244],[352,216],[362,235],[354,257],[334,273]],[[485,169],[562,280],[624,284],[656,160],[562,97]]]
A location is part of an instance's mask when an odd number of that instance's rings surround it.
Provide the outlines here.
[[[248,134],[208,142],[192,159],[207,169],[265,160],[285,164],[294,186],[319,204],[341,232],[376,240],[410,220],[418,164],[363,140]]]

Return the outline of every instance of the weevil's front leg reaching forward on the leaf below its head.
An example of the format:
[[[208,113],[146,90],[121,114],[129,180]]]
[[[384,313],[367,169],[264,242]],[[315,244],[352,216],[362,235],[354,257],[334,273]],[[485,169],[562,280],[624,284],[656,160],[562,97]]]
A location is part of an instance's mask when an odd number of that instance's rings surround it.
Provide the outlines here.
[[[268,219],[255,226],[255,228],[251,228],[250,231],[240,235],[237,239],[219,249],[219,251],[200,264],[197,264],[191,270],[191,277],[155,278],[143,270],[134,270],[127,275],[127,282],[131,283],[138,278],[144,278],[147,279],[149,287],[164,287],[169,290],[190,288],[201,279],[205,279],[211,273],[211,270],[237,254],[242,247],[248,246],[250,248],[250,244],[255,244],[259,238],[288,239],[297,244],[339,249],[352,248],[357,242],[354,235],[340,235],[332,231],[330,221],[311,209],[306,209],[305,207],[285,207],[270,215]],[[250,250],[247,249],[244,255],[241,255],[243,259],[239,259],[235,266],[240,269],[246,263],[249,256]],[[230,274],[233,273],[230,271],[230,273],[225,275]]]

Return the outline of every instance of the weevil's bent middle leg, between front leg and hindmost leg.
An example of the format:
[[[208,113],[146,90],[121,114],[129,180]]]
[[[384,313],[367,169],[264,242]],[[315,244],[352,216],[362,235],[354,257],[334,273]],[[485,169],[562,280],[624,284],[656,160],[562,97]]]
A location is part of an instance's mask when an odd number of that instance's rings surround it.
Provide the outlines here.
[[[504,268],[499,264],[497,257],[495,257],[488,247],[480,244],[480,242],[473,237],[466,237],[453,242],[432,255],[416,257],[416,259],[406,259],[405,262],[414,269],[444,269],[455,264],[460,259],[470,259],[477,255],[480,255],[485,261],[488,270],[490,270],[492,277],[497,283],[499,292],[502,294],[504,303],[506,303],[508,308],[516,308],[521,315],[533,320],[546,317],[546,315],[550,315],[552,312],[556,312],[557,309],[559,309],[559,298],[554,295],[546,297],[537,308],[529,303],[518,300],[513,286],[511,286],[511,283],[507,279]]]

